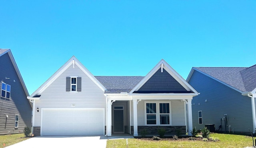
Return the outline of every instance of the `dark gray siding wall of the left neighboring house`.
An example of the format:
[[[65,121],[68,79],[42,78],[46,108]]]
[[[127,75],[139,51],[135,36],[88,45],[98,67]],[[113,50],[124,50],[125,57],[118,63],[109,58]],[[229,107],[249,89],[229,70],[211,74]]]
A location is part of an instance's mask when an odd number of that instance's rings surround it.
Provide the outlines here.
[[[8,53],[0,56],[0,63],[0,90],[2,82],[11,86],[10,100],[0,98],[0,134],[20,133],[24,127],[31,127],[32,107]],[[18,128],[14,128],[15,115],[19,115]]]

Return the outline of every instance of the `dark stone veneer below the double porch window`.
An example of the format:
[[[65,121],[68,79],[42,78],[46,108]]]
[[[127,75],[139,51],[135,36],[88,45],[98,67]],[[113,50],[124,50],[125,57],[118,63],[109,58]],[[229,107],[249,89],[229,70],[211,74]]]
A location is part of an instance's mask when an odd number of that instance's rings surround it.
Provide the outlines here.
[[[182,134],[186,134],[186,126],[138,126],[138,134],[140,135],[140,130],[146,129],[149,135],[158,135],[157,131],[161,128],[166,130],[166,135],[176,134],[177,129],[180,129]],[[131,126],[131,133],[133,134],[133,126]]]

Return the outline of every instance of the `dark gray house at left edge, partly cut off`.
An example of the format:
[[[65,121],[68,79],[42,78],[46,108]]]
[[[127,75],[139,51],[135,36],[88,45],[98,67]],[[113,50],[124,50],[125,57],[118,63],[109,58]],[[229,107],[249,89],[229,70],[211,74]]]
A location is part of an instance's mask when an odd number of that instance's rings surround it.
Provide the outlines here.
[[[32,103],[10,49],[0,49],[0,134],[31,128]]]

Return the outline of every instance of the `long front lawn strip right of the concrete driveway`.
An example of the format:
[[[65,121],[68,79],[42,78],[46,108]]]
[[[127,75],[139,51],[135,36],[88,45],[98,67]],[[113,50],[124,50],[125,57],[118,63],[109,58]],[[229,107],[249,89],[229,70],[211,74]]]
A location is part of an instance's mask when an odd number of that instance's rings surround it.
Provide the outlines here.
[[[252,137],[234,134],[210,134],[218,137],[220,141],[200,141],[200,140],[141,140],[128,139],[128,148],[242,148],[252,146]],[[126,148],[126,139],[108,140],[107,148]]]

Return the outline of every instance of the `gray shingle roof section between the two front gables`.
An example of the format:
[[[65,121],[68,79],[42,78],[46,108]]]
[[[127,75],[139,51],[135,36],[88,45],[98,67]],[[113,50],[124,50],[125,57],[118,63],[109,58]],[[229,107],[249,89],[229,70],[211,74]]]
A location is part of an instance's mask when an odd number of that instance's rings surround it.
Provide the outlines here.
[[[105,93],[121,93],[130,92],[144,76],[95,76],[95,78],[109,91]]]

